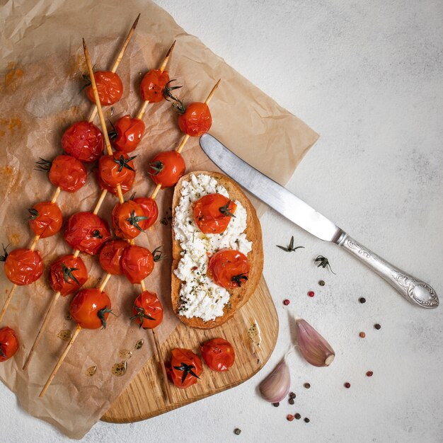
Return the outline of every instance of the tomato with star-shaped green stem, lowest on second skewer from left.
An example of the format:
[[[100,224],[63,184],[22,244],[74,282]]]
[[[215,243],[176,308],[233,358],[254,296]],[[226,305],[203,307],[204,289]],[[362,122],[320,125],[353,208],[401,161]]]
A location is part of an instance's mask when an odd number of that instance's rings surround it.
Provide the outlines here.
[[[80,257],[62,255],[51,263],[48,276],[50,287],[63,297],[74,294],[88,280],[88,271]]]

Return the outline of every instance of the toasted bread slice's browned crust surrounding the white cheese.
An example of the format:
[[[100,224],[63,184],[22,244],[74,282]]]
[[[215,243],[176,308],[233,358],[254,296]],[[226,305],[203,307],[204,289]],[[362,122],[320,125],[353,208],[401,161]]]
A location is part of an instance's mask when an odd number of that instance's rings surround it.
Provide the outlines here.
[[[251,264],[251,270],[249,271],[248,281],[245,284],[242,284],[241,287],[235,289],[228,289],[230,294],[229,304],[226,304],[223,309],[223,316],[219,316],[212,321],[204,321],[199,317],[188,318],[185,316],[180,316],[178,313],[178,309],[180,306],[180,287],[182,281],[176,277],[174,274],[174,270],[177,269],[178,263],[180,262],[180,253],[182,249],[180,248],[180,243],[176,241],[174,228],[172,229],[172,253],[173,253],[173,263],[172,263],[172,283],[171,283],[171,299],[172,299],[172,307],[176,316],[180,318],[180,321],[183,321],[185,325],[191,326],[192,328],[202,328],[209,329],[215,328],[216,326],[220,326],[226,321],[229,320],[234,313],[238,311],[238,309],[246,304],[249,297],[255,292],[255,288],[260,282],[260,277],[263,272],[263,244],[262,244],[262,231],[260,222],[258,221],[257,214],[255,213],[255,208],[249,201],[248,197],[244,194],[243,190],[231,180],[224,176],[221,173],[214,172],[205,172],[205,171],[194,171],[192,173],[188,173],[178,181],[176,185],[176,189],[174,190],[173,195],[173,203],[172,203],[172,214],[173,220],[176,215],[176,207],[180,202],[180,190],[182,188],[182,183],[184,180],[190,180],[190,176],[195,175],[198,176],[200,174],[205,174],[207,176],[211,176],[217,180],[220,185],[223,185],[224,188],[229,192],[229,198],[231,200],[238,200],[241,202],[241,205],[246,209],[247,218],[246,218],[246,237],[249,241],[252,242],[252,251],[248,253],[248,260]],[[174,223],[172,223],[174,226]]]

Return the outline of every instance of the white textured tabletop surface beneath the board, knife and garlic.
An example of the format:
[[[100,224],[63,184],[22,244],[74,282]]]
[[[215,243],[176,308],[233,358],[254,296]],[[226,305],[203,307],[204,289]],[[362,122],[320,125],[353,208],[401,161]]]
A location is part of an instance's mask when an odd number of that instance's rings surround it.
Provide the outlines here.
[[[289,189],[443,297],[442,1],[158,3],[321,134]],[[262,224],[265,277],[280,317],[263,372],[159,418],[100,422],[84,441],[441,442],[443,307],[415,308],[344,251],[275,213]],[[292,234],[305,249],[275,248]],[[313,266],[318,254],[330,259],[336,276]],[[358,303],[362,296],[366,304]],[[284,307],[287,297],[292,304]],[[293,309],[328,338],[337,357],[328,369],[290,357],[295,405],[272,408],[255,387],[287,350]],[[360,330],[367,338],[358,337]],[[369,369],[371,379],[364,375]],[[23,413],[3,385],[0,392],[0,441],[67,441]],[[295,412],[311,422],[287,422]]]

